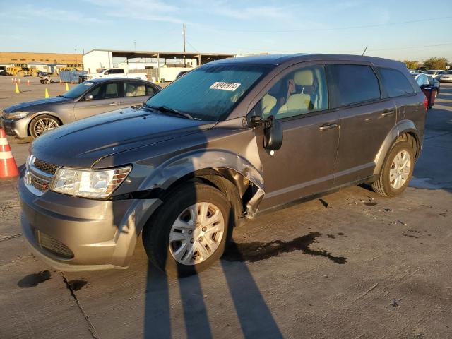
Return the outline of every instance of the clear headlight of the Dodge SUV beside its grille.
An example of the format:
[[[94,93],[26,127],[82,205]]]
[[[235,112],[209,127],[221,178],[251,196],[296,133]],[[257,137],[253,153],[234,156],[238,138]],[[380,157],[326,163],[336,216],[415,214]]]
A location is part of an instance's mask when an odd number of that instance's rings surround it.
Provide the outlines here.
[[[131,167],[94,171],[60,168],[55,175],[52,191],[85,198],[107,198],[124,182]]]

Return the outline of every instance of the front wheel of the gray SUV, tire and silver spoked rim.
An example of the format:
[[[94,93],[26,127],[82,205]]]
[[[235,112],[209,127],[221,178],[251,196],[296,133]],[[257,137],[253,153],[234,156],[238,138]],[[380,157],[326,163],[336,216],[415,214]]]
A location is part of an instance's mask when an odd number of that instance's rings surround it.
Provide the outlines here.
[[[199,224],[202,224],[202,222],[198,223],[198,219],[196,219],[198,227],[182,230],[182,227],[187,227],[194,221],[191,218],[193,214],[187,211],[193,206],[198,206],[196,204],[199,204],[199,206],[208,205],[208,213],[211,213],[211,206],[218,208],[218,210],[213,208],[215,213],[212,213],[210,218],[215,217],[215,219],[221,220],[222,217],[222,232],[208,233],[209,230],[214,230],[214,227],[220,228],[220,221],[218,221],[218,224],[213,223],[208,227],[201,228]],[[199,213],[201,208],[195,207],[193,211],[195,210],[198,210],[198,214],[201,214]],[[172,277],[183,277],[206,270],[225,251],[225,246],[232,234],[232,222],[234,220],[232,215],[230,202],[218,189],[198,182],[182,184],[165,198],[165,203],[160,206],[144,227],[143,244],[150,262]],[[209,219],[206,218],[206,220]],[[183,225],[181,230],[177,230],[179,225]],[[208,221],[204,225],[208,225]],[[207,228],[208,230],[206,230]],[[201,231],[206,231],[206,233],[200,233]],[[210,234],[210,237],[208,234]],[[171,242],[170,236],[173,237]],[[174,240],[179,239],[179,236],[184,239],[180,242]],[[189,239],[190,237],[192,238]],[[194,240],[195,237],[197,239],[203,238],[202,242]],[[212,244],[209,244],[209,242]],[[199,246],[206,243],[208,249],[204,247],[206,249],[206,258],[204,259],[202,258],[203,254],[198,249],[201,249]],[[179,258],[179,261],[176,257]]]

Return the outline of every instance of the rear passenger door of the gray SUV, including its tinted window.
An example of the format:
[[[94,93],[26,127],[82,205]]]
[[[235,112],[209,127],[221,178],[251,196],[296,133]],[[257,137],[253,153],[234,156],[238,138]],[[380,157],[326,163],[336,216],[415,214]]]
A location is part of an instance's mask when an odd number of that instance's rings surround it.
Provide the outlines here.
[[[370,64],[328,66],[331,102],[340,116],[334,186],[371,177],[376,155],[396,124],[396,105],[381,93]]]

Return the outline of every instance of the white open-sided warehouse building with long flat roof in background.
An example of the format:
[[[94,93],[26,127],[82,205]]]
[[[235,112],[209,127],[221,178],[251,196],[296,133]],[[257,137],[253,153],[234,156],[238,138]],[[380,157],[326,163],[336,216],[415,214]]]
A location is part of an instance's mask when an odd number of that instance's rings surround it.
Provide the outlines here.
[[[148,78],[158,81],[173,81],[181,71],[230,57],[234,54],[93,49],[83,54],[83,67],[88,73],[120,67],[131,73],[147,73]]]

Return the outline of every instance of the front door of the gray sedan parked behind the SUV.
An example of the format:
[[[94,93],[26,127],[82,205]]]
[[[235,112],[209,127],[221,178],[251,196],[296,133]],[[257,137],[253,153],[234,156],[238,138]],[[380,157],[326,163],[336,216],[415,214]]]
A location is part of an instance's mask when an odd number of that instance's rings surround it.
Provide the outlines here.
[[[81,98],[74,106],[76,120],[95,114],[113,111],[121,104],[119,81],[102,82],[90,90],[86,95],[93,95],[93,100]]]

